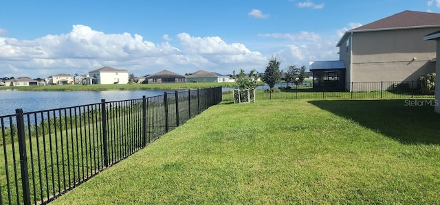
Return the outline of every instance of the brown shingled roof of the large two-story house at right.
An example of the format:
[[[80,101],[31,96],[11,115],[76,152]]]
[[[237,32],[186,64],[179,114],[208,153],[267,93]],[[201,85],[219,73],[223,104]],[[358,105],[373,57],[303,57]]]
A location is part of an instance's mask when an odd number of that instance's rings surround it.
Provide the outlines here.
[[[345,32],[336,46],[339,47],[351,33],[423,27],[440,27],[440,14],[406,10]]]

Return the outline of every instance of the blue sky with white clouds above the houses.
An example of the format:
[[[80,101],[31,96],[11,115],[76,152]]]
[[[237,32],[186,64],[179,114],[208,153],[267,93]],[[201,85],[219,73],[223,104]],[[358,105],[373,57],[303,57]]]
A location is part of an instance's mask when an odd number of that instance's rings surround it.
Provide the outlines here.
[[[440,12],[440,0],[0,0],[0,77],[262,73],[274,55],[308,67],[338,60],[348,29],[404,10]]]

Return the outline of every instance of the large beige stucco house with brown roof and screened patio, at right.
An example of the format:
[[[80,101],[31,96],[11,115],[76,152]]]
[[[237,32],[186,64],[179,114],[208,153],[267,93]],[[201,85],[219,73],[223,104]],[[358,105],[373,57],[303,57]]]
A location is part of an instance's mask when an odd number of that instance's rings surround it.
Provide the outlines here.
[[[364,89],[353,88],[358,82],[417,84],[421,75],[435,71],[436,45],[423,40],[423,36],[439,29],[440,14],[414,11],[351,29],[338,41],[339,60],[311,62],[314,86],[340,86],[353,91]]]

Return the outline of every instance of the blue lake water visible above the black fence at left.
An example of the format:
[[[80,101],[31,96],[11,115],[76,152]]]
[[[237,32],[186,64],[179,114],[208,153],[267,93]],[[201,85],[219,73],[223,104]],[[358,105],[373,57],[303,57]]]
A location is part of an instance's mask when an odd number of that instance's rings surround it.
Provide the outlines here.
[[[183,91],[183,90],[181,90]],[[175,91],[0,91],[0,116],[15,114],[15,109],[23,112],[66,108],[86,104],[124,99],[140,99]]]

